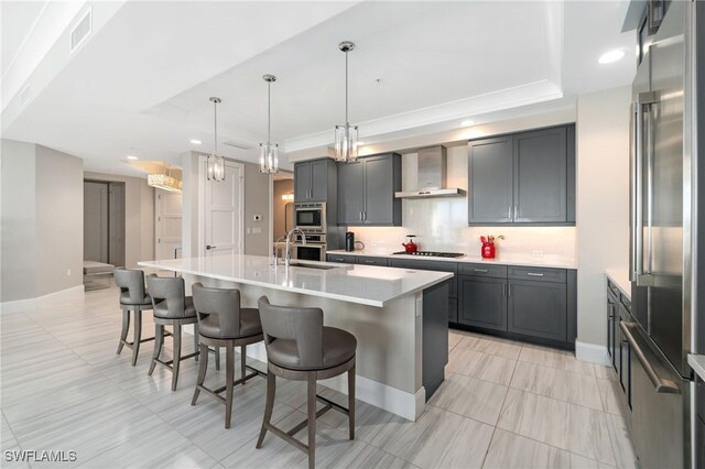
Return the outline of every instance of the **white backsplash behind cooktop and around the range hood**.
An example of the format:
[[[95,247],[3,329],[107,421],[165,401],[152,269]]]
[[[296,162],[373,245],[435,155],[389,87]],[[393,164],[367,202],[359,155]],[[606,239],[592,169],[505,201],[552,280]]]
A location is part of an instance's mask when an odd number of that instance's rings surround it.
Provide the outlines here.
[[[416,155],[402,156],[402,188],[416,185]],[[467,189],[467,148],[448,149],[447,186]],[[497,241],[498,254],[557,255],[576,258],[575,227],[468,227],[467,196],[404,199],[403,227],[350,227],[355,238],[366,249],[379,251],[403,250],[406,234],[416,234],[415,242],[424,251],[449,251],[465,254],[480,252],[479,237],[502,234]]]

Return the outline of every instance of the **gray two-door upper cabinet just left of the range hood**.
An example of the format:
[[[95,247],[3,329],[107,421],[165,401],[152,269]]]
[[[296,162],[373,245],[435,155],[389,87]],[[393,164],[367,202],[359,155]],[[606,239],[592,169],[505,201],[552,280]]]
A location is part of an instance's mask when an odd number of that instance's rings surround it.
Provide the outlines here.
[[[338,164],[338,225],[401,226],[401,155],[386,153]]]

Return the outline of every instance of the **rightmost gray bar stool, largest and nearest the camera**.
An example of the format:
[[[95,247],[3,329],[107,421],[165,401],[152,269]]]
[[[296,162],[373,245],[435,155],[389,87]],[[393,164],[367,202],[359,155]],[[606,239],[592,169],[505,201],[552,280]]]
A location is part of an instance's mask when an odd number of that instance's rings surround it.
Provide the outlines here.
[[[267,430],[308,455],[315,467],[316,418],[335,407],[348,416],[350,439],[355,439],[355,336],[343,329],[323,326],[321,308],[294,308],[270,305],[267,296],[259,301],[260,319],[267,347],[267,405],[257,448],[262,447]],[[348,408],[316,395],[316,381],[348,373]],[[272,425],[276,377],[307,382],[308,418],[284,432]],[[316,400],[325,406],[316,412]],[[308,425],[308,445],[293,437]]]

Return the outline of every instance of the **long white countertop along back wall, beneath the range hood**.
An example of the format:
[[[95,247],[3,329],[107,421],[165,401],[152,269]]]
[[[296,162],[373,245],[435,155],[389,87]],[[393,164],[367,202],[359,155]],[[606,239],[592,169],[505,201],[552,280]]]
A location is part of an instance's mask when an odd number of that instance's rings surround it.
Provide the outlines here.
[[[442,262],[470,262],[478,264],[499,264],[499,265],[525,265],[530,268],[554,268],[554,269],[577,269],[577,262],[573,258],[564,258],[560,255],[535,257],[531,254],[501,254],[495,259],[482,259],[480,255],[464,254],[462,258],[432,258],[421,255],[392,254],[388,251],[379,250],[356,250],[346,251],[337,249],[327,251],[328,254],[340,255],[370,255],[377,258],[393,259],[413,259],[416,261],[442,261]]]

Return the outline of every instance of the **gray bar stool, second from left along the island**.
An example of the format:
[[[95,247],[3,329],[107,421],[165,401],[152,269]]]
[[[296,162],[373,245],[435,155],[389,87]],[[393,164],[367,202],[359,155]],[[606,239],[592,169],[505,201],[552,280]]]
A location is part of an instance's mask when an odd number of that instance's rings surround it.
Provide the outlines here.
[[[176,391],[178,381],[178,364],[182,360],[198,356],[198,320],[194,308],[193,297],[186,296],[183,277],[160,277],[156,274],[147,276],[147,287],[152,296],[154,307],[154,329],[156,341],[154,353],[148,375],[152,375],[154,367],[160,364],[172,371],[172,391]],[[196,351],[187,356],[181,356],[181,331],[182,326],[194,325],[194,347]],[[162,347],[164,346],[164,326],[173,327],[174,358],[169,361],[160,360]]]

